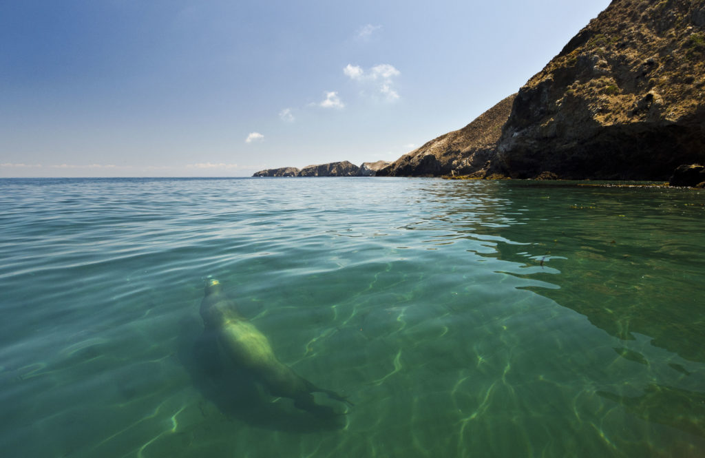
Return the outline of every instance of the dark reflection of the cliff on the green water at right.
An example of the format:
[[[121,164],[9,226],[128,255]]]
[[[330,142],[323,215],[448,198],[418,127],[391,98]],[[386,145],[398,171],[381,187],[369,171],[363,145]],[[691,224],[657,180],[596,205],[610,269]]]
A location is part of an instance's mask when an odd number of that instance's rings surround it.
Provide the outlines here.
[[[521,267],[503,272],[550,282],[533,291],[587,316],[613,337],[705,362],[699,298],[705,275],[705,194],[664,188],[586,188],[515,181],[443,188],[436,226],[468,238],[497,238],[478,253]],[[461,210],[458,210],[458,209]]]

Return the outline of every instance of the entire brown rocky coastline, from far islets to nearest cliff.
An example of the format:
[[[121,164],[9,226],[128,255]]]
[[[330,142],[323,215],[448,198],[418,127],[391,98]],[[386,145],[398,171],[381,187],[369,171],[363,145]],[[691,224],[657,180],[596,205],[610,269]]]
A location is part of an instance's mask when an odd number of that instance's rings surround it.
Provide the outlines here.
[[[613,0],[517,93],[395,162],[359,168],[332,162],[255,176],[589,179],[705,187],[703,165],[705,4]]]

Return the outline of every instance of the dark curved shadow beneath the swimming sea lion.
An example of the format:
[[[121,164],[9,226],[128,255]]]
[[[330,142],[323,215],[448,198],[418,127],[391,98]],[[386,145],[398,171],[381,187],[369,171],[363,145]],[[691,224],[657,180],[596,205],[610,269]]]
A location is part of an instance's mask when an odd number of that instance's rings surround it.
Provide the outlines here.
[[[271,397],[245,370],[226,361],[215,338],[202,332],[195,318],[181,325],[178,358],[198,392],[229,419],[288,433],[317,433],[345,426],[342,414],[314,416],[296,409],[290,399]]]

